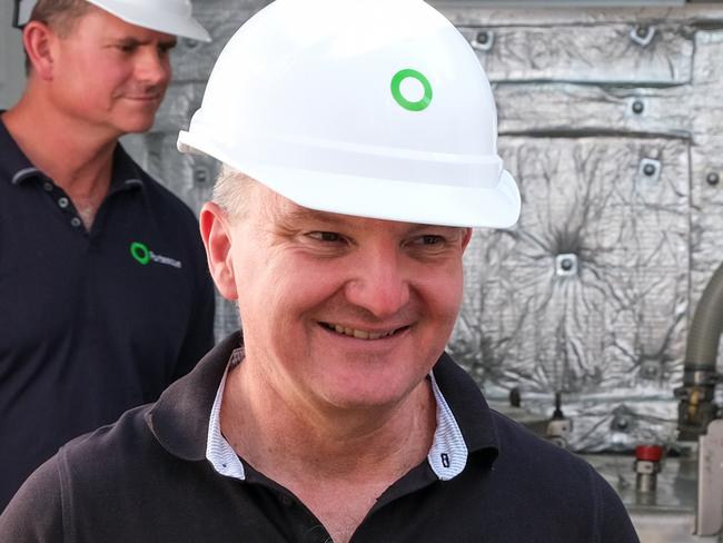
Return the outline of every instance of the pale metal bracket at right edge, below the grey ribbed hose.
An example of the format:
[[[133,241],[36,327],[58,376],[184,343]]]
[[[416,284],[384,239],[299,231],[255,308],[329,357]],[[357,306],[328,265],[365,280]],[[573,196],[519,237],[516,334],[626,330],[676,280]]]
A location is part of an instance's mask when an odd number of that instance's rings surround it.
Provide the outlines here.
[[[712,421],[699,441],[695,535],[723,527],[723,419]]]

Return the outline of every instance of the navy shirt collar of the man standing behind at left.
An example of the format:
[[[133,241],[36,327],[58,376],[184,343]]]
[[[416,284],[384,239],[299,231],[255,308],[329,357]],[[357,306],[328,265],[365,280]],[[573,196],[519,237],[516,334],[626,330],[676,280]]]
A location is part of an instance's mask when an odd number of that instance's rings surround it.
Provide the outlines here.
[[[4,111],[0,110],[0,113]],[[0,178],[7,179],[13,185],[20,185],[33,177],[47,178],[22,152],[2,117],[0,117],[0,149],[2,149],[2,154],[0,154]],[[113,151],[110,189],[123,190],[143,186],[143,176],[140,174],[138,165],[130,158],[122,146],[117,144]]]

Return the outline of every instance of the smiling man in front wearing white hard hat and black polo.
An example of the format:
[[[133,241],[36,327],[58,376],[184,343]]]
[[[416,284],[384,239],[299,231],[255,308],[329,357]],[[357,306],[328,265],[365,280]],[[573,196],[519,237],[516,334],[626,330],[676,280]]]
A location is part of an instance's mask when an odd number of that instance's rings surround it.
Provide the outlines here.
[[[228,42],[179,147],[225,165],[201,233],[242,334],[65,446],[0,537],[637,541],[590,465],[491,411],[444,353],[471,228],[513,226],[521,198],[443,16],[277,0]]]

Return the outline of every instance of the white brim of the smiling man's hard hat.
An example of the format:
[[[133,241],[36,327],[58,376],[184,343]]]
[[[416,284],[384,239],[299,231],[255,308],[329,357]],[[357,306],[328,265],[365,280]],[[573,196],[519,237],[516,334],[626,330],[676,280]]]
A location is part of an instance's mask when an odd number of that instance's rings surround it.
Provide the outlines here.
[[[403,223],[509,228],[521,211],[521,196],[512,175],[503,170],[488,187],[460,187],[402,179],[355,176],[238,160],[204,149],[181,131],[181,152],[200,151],[256,179],[295,204],[319,211]]]

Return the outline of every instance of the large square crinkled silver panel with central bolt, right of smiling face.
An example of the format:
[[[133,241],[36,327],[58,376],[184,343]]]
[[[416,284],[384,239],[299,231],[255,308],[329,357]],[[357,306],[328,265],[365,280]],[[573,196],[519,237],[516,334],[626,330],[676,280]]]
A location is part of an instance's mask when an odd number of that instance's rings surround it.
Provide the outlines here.
[[[637,411],[670,417],[661,399],[682,376],[689,144],[508,137],[501,151],[523,215],[512,230],[476,233],[450,351],[491,399],[516,387],[549,415],[564,392],[573,447],[608,446],[616,409],[630,419],[617,440],[632,445],[650,433],[633,428]]]

